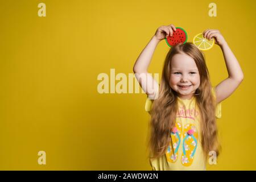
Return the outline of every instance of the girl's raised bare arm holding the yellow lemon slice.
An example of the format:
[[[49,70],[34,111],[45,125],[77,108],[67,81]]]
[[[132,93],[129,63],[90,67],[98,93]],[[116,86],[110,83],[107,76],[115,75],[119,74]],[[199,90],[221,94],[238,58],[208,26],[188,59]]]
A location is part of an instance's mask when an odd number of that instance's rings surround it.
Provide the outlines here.
[[[216,44],[221,47],[225,59],[226,68],[228,70],[228,78],[221,81],[216,86],[216,101],[217,103],[219,103],[225,100],[225,98],[228,98],[234,92],[234,90],[237,89],[238,85],[241,84],[243,80],[243,72],[240,64],[236,59],[236,56],[234,56],[233,52],[228,46],[228,43],[226,43],[223,36],[220,34],[220,31],[205,30],[203,34],[205,38],[214,38]]]

